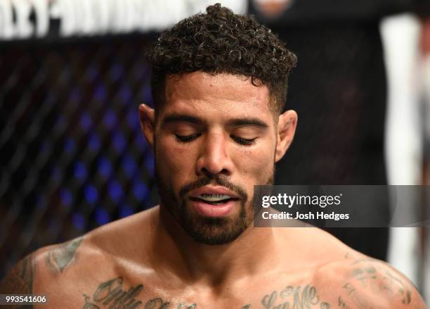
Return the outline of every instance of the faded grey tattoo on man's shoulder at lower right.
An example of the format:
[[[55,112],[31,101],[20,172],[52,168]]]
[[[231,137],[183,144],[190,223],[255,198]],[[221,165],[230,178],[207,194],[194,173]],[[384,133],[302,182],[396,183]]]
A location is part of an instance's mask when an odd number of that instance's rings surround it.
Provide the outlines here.
[[[351,270],[351,280],[346,282],[342,289],[348,295],[348,301],[359,308],[370,308],[372,304],[358,291],[374,294],[375,296],[387,296],[404,305],[409,305],[412,301],[412,284],[396,275],[386,267],[382,267],[375,260],[363,259],[353,262]],[[339,307],[350,308],[348,301],[344,301],[339,296]]]

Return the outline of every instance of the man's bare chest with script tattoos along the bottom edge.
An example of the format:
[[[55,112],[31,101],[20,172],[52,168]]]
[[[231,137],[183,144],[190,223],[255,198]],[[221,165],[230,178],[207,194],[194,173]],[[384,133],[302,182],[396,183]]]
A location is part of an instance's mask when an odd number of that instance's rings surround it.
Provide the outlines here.
[[[47,307],[44,307],[47,308]],[[82,309],[292,309],[330,308],[330,302],[307,277],[259,282],[219,289],[129,279],[120,275],[77,286],[74,297],[54,297],[48,308]],[[334,305],[331,307],[334,308]]]

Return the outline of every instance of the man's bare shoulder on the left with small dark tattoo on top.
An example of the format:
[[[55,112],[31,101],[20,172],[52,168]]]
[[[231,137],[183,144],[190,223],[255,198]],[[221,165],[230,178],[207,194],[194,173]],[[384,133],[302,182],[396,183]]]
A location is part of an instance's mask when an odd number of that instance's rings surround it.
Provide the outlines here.
[[[136,217],[131,216],[34,251],[1,280],[0,294],[46,295],[51,305],[44,308],[77,308],[77,301],[86,299],[83,291],[116,276],[115,259],[127,250],[126,238],[134,225]]]

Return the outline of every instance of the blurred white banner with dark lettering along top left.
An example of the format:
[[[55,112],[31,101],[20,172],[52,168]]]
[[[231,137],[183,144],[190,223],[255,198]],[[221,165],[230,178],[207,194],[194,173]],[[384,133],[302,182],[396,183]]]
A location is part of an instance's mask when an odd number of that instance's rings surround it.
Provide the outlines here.
[[[246,12],[246,0],[217,2],[237,13]],[[0,39],[159,31],[213,3],[209,0],[0,1]]]

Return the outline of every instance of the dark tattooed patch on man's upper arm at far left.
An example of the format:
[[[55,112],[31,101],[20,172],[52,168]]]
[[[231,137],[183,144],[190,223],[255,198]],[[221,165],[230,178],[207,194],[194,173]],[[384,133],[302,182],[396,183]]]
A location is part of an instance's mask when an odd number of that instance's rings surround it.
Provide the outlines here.
[[[0,282],[0,294],[33,294],[34,268],[31,255],[20,261]],[[10,308],[33,308],[33,305],[15,305]]]

